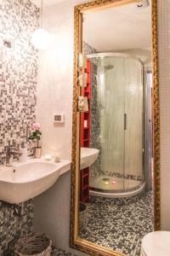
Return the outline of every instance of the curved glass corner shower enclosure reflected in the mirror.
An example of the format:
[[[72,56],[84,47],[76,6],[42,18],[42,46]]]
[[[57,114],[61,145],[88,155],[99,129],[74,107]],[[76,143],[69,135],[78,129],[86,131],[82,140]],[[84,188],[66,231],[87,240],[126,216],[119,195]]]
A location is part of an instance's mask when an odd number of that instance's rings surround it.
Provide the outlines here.
[[[126,54],[88,57],[92,91],[90,147],[100,152],[90,168],[91,194],[136,195],[144,189],[143,64]]]

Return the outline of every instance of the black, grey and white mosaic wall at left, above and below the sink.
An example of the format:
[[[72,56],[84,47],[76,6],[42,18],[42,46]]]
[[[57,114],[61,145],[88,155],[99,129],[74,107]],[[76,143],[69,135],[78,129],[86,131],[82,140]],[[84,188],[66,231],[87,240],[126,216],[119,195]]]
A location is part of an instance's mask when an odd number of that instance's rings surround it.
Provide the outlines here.
[[[30,43],[38,26],[39,10],[29,0],[0,1],[0,159],[8,145],[26,141],[35,120],[37,50]],[[31,150],[31,147],[30,147]],[[32,228],[32,203],[21,215],[0,205],[0,255],[13,255],[15,241]]]

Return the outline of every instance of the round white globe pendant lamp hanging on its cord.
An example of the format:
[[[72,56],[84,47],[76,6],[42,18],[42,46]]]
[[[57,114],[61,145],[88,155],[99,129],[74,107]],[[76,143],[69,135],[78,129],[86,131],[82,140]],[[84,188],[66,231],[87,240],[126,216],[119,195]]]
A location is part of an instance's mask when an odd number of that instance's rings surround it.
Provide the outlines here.
[[[42,28],[42,13],[43,13],[43,0],[41,0],[41,23],[40,27],[35,30],[31,35],[31,44],[34,45],[37,49],[46,49],[50,44],[50,35],[49,33]]]

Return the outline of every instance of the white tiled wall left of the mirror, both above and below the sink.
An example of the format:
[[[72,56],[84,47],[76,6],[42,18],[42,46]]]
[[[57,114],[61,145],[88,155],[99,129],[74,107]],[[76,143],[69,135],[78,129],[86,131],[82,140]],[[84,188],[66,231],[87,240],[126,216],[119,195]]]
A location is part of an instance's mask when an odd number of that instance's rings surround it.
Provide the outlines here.
[[[43,154],[71,159],[74,5],[59,3],[45,9],[44,24],[52,34],[51,47],[40,55],[37,85],[37,121],[42,126]],[[54,125],[54,113],[65,113],[65,124]],[[69,247],[71,172],[34,199],[34,230],[47,233],[56,247]],[[76,252],[77,255],[83,253]]]

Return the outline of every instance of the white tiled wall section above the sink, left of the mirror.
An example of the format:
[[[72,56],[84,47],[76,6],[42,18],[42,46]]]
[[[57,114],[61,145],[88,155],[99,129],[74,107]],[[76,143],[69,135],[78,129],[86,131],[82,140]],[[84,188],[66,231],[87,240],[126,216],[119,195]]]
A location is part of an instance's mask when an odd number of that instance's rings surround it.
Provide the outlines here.
[[[59,12],[60,9],[60,12]],[[52,44],[39,58],[37,121],[42,128],[43,154],[71,158],[72,35],[71,17],[65,3],[47,8],[44,24]],[[54,113],[65,113],[65,124],[54,124]]]

